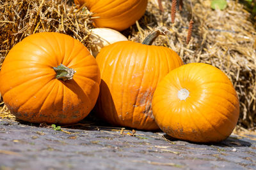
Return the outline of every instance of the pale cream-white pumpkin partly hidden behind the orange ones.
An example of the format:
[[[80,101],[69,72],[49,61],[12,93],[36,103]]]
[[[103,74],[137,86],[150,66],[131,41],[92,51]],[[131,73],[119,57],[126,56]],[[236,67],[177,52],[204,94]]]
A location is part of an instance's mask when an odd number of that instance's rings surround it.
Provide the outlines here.
[[[96,57],[103,46],[113,44],[117,41],[128,41],[128,39],[114,29],[95,28],[91,29],[90,41],[92,41],[90,43],[92,55]]]

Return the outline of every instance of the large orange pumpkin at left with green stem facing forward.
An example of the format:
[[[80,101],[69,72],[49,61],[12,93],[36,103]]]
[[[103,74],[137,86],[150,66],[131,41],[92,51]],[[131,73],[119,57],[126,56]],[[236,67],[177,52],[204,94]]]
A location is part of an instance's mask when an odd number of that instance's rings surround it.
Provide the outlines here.
[[[0,92],[10,112],[35,123],[82,120],[97,101],[99,83],[99,67],[87,48],[56,32],[22,39],[0,72]]]

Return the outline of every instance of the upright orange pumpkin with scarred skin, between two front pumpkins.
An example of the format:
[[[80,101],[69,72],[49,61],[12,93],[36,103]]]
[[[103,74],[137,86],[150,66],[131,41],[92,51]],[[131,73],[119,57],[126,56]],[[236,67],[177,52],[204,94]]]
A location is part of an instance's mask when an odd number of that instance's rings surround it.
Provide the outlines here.
[[[102,80],[95,105],[99,118],[117,126],[159,129],[151,108],[154,90],[163,76],[183,64],[170,48],[151,45],[160,33],[152,32],[143,44],[119,41],[100,50],[96,60]]]

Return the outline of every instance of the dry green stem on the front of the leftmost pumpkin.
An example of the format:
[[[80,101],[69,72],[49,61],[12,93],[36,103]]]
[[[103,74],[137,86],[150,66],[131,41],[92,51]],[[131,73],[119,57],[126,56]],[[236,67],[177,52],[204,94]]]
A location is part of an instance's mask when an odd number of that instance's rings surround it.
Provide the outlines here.
[[[53,67],[53,69],[56,72],[56,78],[63,81],[72,80],[74,74],[76,73],[74,69],[70,69],[63,64],[60,64],[58,67]]]

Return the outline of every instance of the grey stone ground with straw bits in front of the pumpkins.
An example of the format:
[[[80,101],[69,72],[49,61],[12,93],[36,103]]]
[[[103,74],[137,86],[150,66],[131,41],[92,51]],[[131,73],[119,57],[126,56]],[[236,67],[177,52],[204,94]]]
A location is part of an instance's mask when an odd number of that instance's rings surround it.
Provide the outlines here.
[[[123,130],[0,119],[0,169],[256,169],[253,135],[197,144]]]

